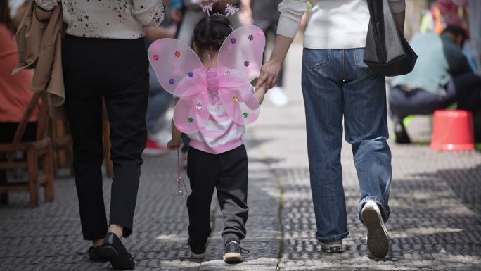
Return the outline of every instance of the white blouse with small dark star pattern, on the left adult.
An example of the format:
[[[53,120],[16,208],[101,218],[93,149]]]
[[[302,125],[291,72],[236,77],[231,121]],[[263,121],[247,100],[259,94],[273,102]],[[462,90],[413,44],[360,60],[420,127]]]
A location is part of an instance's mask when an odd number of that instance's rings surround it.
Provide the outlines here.
[[[164,19],[162,0],[35,0],[51,11],[62,3],[67,34],[101,39],[139,39]]]

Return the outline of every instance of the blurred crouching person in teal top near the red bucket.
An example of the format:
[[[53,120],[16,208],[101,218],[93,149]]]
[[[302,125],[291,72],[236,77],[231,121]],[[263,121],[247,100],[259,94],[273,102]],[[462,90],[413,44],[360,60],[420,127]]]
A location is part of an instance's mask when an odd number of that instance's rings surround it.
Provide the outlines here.
[[[411,73],[392,80],[389,95],[397,143],[411,142],[403,125],[407,115],[432,114],[453,103],[473,113],[480,109],[481,77],[463,54],[466,37],[463,27],[448,25],[441,35],[425,32],[411,40],[418,61]]]

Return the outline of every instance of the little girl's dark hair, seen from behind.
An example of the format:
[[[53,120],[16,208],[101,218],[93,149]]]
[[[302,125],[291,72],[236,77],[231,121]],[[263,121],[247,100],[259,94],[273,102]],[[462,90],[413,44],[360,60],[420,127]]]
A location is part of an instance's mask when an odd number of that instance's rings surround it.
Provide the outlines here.
[[[218,51],[231,32],[231,23],[225,16],[210,15],[195,25],[193,42],[201,50]]]

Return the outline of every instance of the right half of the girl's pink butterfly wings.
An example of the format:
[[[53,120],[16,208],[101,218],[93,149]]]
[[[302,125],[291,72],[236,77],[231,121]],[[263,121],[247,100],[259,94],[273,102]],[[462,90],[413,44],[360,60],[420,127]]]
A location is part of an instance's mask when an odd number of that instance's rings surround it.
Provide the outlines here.
[[[259,117],[260,105],[250,82],[260,73],[266,38],[259,27],[234,30],[219,50],[219,93],[226,113],[246,125]]]

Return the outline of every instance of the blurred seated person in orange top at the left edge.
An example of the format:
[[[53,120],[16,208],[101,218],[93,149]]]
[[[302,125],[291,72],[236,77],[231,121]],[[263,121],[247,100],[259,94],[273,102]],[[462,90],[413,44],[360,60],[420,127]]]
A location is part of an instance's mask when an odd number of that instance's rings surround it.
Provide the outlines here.
[[[12,8],[9,8],[9,2]],[[12,70],[18,65],[15,32],[22,18],[27,1],[0,1],[0,142],[13,141],[20,120],[32,99],[30,84],[33,70],[21,70],[15,75]],[[12,17],[11,17],[12,15]],[[35,140],[38,108],[30,117],[23,141]]]

